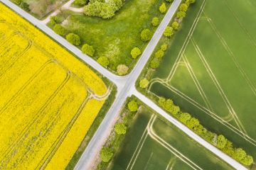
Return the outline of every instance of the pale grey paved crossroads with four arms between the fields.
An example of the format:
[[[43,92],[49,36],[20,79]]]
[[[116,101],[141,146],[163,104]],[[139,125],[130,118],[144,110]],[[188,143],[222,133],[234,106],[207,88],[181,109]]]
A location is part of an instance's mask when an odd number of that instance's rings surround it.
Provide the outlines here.
[[[137,65],[134,67],[132,72],[125,77],[119,77],[115,74],[112,74],[107,69],[102,67],[100,64],[95,62],[95,60],[92,60],[91,57],[82,54],[82,52],[77,47],[71,45],[60,35],[55,34],[53,30],[45,26],[43,23],[41,23],[41,21],[38,21],[38,19],[31,16],[29,13],[26,13],[18,6],[12,4],[11,1],[0,1],[4,2],[4,4],[12,8],[14,11],[16,11],[16,13],[23,16],[23,18],[26,18],[34,26],[43,30],[44,33],[48,34],[51,38],[55,39],[61,45],[63,45],[68,50],[73,52],[81,60],[83,60],[87,64],[90,64],[92,68],[96,69],[97,72],[100,72],[103,76],[107,77],[107,79],[110,79],[110,81],[114,82],[114,84],[116,84],[117,86],[117,98],[112,104],[110,111],[108,111],[107,115],[102,121],[100,127],[95,132],[95,135],[92,137],[92,140],[85,149],[85,152],[82,154],[82,157],[80,158],[78,164],[75,166],[75,169],[90,169],[93,159],[95,159],[97,153],[99,152],[105,140],[107,139],[107,136],[110,134],[112,125],[118,118],[119,111],[122,108],[124,101],[127,97],[131,96],[132,94],[137,96],[140,100],[146,103],[146,105],[153,108],[156,112],[164,116],[164,118],[166,118],[171,123],[176,125],[179,129],[183,130],[183,132],[185,132],[188,136],[192,137],[193,140],[196,140],[201,145],[209,149],[211,152],[217,154],[218,157],[225,160],[225,162],[228,162],[228,164],[233,166],[235,169],[245,169],[244,166],[236,162],[234,159],[228,157],[228,155],[223,154],[223,152],[220,152],[220,150],[217,149],[216,147],[210,145],[208,142],[206,142],[201,137],[196,135],[194,132],[186,128],[186,126],[184,126],[183,124],[179,123],[176,119],[172,118],[168,113],[159,108],[159,106],[157,106],[154,102],[149,100],[149,98],[146,98],[135,89],[135,81],[138,79],[139,74],[142,72],[142,69],[144,68],[146,62],[149,60],[149,57],[151,56],[154,47],[156,47],[157,42],[161,38],[162,33],[164,33],[164,28],[166,28],[166,26],[169,24],[172,16],[174,16],[174,13],[178,8],[178,5],[181,3],[181,0],[174,0],[174,3],[171,5],[171,8],[169,8],[169,11],[166,13],[166,16],[164,17],[163,21],[161,21],[159,28],[157,28],[156,32],[154,33],[153,38],[151,39],[149,45],[147,45],[146,49],[144,50],[142,57],[139,59]]]

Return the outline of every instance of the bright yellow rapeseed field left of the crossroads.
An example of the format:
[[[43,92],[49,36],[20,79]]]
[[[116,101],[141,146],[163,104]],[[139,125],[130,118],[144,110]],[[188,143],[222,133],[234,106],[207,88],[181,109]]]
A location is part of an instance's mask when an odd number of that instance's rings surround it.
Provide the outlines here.
[[[107,86],[0,3],[0,169],[65,169]]]

